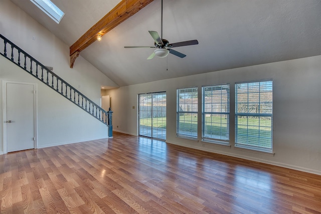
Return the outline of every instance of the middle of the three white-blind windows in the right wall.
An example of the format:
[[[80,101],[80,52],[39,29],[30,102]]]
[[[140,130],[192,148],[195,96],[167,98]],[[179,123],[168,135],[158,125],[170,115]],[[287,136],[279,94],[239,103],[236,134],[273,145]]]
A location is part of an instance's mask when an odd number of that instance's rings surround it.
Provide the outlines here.
[[[203,140],[229,140],[230,85],[202,87]]]

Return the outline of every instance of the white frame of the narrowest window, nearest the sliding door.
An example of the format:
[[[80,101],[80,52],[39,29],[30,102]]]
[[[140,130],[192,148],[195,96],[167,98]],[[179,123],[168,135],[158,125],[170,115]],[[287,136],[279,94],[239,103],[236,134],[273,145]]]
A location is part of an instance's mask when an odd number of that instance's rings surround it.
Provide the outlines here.
[[[180,110],[180,96],[179,96],[179,91],[180,90],[187,90],[187,89],[192,89],[192,92],[193,92],[193,89],[196,89],[196,94],[197,94],[197,103],[196,103],[196,107],[197,107],[197,111],[181,111]],[[182,138],[187,138],[187,139],[191,139],[191,140],[197,140],[198,139],[198,87],[195,86],[195,87],[186,87],[186,88],[178,88],[176,90],[176,136],[177,137],[182,137]],[[193,102],[192,102],[193,104]],[[197,115],[197,123],[196,123],[196,130],[194,131],[196,133],[196,135],[192,135],[192,134],[184,134],[182,132],[180,132],[180,114],[196,114]],[[191,125],[192,127],[192,125]],[[191,129],[192,130],[192,129]],[[191,131],[192,133],[192,131]]]

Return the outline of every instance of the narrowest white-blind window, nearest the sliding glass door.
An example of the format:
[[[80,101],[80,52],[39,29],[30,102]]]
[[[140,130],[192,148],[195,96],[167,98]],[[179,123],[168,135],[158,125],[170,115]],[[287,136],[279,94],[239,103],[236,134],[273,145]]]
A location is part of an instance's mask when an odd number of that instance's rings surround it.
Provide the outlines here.
[[[197,138],[198,90],[177,89],[177,136]]]

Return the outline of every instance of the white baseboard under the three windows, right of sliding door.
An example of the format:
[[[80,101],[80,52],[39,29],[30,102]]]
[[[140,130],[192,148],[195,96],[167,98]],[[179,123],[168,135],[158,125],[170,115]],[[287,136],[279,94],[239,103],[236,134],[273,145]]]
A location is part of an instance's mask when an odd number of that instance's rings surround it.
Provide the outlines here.
[[[260,162],[260,163],[266,163],[266,164],[270,164],[270,165],[275,165],[275,166],[280,166],[280,167],[284,167],[284,168],[289,168],[289,169],[294,169],[294,170],[298,170],[298,171],[304,171],[304,172],[308,172],[308,173],[312,173],[312,174],[321,175],[321,171],[319,171],[319,170],[300,167],[300,166],[295,166],[295,165],[291,165],[291,164],[287,164],[287,163],[269,161],[269,160],[264,160],[264,159],[261,159],[261,158],[255,158],[255,157],[250,157],[250,156],[246,156],[246,155],[240,155],[240,154],[234,154],[234,153],[230,153],[230,152],[218,151],[218,150],[210,149],[210,148],[202,148],[202,147],[192,146],[192,145],[188,145],[187,146],[187,145],[182,145],[182,144],[179,144],[179,143],[173,143],[173,142],[169,142],[169,141],[166,141],[166,142],[174,144],[174,145],[189,147],[189,148],[198,149],[198,150],[202,150],[202,151],[208,151],[208,152],[213,152],[213,153],[217,153],[217,154],[223,154],[223,155],[227,155],[227,156],[231,156],[231,157],[237,157],[237,158],[242,158],[242,159],[246,159],[246,160],[257,161],[257,162]]]

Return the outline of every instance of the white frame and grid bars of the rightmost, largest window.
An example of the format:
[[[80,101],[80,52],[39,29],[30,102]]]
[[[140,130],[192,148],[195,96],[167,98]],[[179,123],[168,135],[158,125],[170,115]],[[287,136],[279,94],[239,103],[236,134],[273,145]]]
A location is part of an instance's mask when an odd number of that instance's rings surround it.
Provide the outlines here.
[[[239,84],[251,84],[251,83],[259,83],[259,104],[261,104],[261,100],[260,100],[260,94],[261,94],[261,90],[260,90],[260,84],[263,83],[263,82],[271,82],[271,113],[238,113],[238,103],[239,103],[239,100],[238,100],[238,85]],[[249,87],[247,86],[247,91],[248,91]],[[249,92],[246,93],[247,94],[247,105],[250,103],[249,102]],[[261,105],[259,105],[261,106]],[[247,107],[247,111],[249,110],[249,108]],[[259,111],[260,111],[260,108],[259,108]],[[238,143],[238,116],[245,116],[247,117],[247,137],[249,136],[248,135],[248,127],[249,127],[249,123],[248,123],[248,118],[249,117],[258,117],[259,119],[259,132],[260,132],[260,117],[270,117],[271,119],[271,126],[268,126],[270,127],[270,130],[271,130],[271,133],[270,133],[270,141],[271,141],[271,146],[270,148],[266,148],[266,147],[260,147],[260,146],[254,146],[254,145],[248,145],[248,140],[247,140],[247,144],[242,144],[242,143]],[[262,126],[263,127],[263,126]],[[267,126],[264,126],[264,127],[267,127]],[[245,82],[236,82],[235,83],[235,148],[237,149],[249,149],[249,150],[252,150],[252,151],[257,151],[257,152],[263,152],[263,153],[273,153],[273,79],[265,79],[265,80],[257,80],[257,81],[245,81]],[[256,136],[255,136],[256,137]],[[259,139],[260,139],[260,134],[257,136]]]

